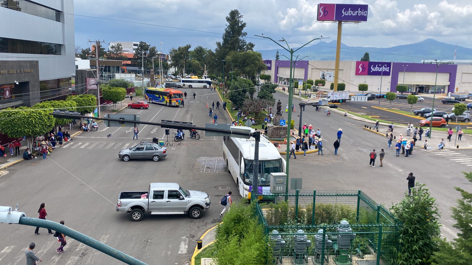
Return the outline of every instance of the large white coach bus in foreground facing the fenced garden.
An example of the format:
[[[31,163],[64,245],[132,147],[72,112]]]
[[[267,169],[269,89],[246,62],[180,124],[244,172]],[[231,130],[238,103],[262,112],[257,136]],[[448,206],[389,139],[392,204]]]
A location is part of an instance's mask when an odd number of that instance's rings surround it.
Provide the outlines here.
[[[255,132],[254,129],[251,131]],[[239,194],[248,199],[251,199],[249,188],[253,184],[254,147],[254,138],[223,137],[223,158],[228,165],[228,173],[233,176]],[[262,194],[270,195],[270,173],[285,173],[285,163],[285,159],[281,157],[274,144],[261,136],[259,142],[259,194],[262,191]]]

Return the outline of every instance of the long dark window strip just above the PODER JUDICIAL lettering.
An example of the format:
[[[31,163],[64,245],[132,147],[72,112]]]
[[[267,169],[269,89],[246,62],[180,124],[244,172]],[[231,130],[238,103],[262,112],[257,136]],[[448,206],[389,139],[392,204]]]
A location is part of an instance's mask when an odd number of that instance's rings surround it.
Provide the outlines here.
[[[61,44],[0,37],[0,52],[60,55]]]

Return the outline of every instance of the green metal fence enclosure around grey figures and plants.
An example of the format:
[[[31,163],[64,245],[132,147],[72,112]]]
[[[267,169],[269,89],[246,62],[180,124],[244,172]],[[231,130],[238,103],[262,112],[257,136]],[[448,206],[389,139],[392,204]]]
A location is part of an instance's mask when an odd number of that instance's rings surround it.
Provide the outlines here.
[[[274,264],[394,263],[401,224],[361,190],[290,190],[258,203],[256,214]]]

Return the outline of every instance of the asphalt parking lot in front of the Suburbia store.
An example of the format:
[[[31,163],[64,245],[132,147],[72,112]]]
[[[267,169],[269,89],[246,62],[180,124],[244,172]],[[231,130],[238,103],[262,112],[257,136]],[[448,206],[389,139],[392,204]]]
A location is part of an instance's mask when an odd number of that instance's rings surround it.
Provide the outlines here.
[[[467,104],[468,101],[462,101],[462,103]],[[392,101],[392,109],[396,110],[403,110],[410,112],[410,109],[421,109],[421,108],[432,108],[433,99],[431,98],[424,98],[424,101],[418,101],[416,104],[413,105],[413,108],[410,108],[410,104],[406,101],[406,99],[395,99]],[[408,116],[404,116],[401,114],[392,113],[389,111],[384,111],[378,108],[371,108],[371,106],[379,107],[379,99],[369,100],[369,101],[347,101],[342,103],[339,108],[346,109],[351,112],[355,112],[361,115],[368,115],[368,116],[379,116],[379,119],[386,120],[389,122],[399,123],[399,124],[408,124],[409,122],[413,122],[413,124],[419,126],[420,119],[413,119]],[[380,107],[382,108],[390,108],[390,101],[387,99],[380,99]],[[441,99],[436,99],[434,101],[434,108],[439,111],[446,111],[447,113],[451,113],[453,108],[453,104],[443,104],[441,103]],[[413,111],[412,111],[413,112]],[[413,115],[413,114],[412,114]]]

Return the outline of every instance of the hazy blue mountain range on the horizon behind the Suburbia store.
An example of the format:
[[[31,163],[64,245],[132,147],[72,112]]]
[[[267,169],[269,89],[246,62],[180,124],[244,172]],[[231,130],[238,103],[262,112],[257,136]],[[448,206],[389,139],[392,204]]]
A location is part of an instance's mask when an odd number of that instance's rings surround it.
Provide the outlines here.
[[[351,47],[341,43],[341,60],[358,61],[366,51],[369,51],[371,61],[392,62],[421,62],[423,59],[453,59],[455,44],[448,44],[433,39],[399,45],[389,48],[375,47]],[[258,50],[262,58],[275,60],[277,50]],[[290,57],[286,50],[278,49],[278,52]],[[300,57],[310,55],[303,60],[326,60],[333,61],[336,58],[336,41],[320,41],[315,45],[304,47],[297,54]],[[287,58],[280,56],[281,60]],[[456,59],[472,59],[472,49],[457,46]]]

